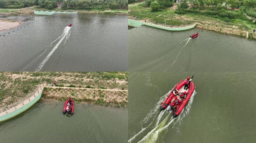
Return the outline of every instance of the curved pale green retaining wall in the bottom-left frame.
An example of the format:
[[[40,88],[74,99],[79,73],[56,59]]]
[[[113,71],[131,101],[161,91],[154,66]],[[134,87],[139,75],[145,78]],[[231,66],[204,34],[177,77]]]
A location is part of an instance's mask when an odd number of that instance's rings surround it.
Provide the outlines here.
[[[42,91],[43,92],[43,91]],[[3,116],[0,116],[0,122],[1,121],[4,121],[4,120],[7,120],[9,118],[12,118],[18,114],[21,114],[22,112],[26,111],[28,108],[30,108],[32,105],[34,105],[42,96],[42,92],[39,93],[39,95],[36,96],[36,98],[34,98],[33,100],[31,100],[28,104],[22,106],[21,108],[19,109],[16,109],[15,111],[13,112],[10,112],[8,114],[5,114]]]

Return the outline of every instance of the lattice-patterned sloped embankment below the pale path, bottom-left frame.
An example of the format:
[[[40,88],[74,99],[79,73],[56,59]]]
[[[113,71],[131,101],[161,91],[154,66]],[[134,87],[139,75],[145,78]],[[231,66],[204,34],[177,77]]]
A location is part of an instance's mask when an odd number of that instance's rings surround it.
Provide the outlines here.
[[[128,90],[117,89],[91,89],[91,88],[67,88],[67,87],[45,87],[43,97],[54,99],[73,98],[77,101],[97,101],[102,99],[106,103],[128,105]]]

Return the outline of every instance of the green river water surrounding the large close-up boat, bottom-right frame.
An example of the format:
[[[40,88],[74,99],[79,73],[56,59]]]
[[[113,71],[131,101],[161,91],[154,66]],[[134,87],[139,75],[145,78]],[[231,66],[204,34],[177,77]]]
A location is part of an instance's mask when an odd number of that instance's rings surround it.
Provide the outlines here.
[[[194,75],[183,112],[159,107],[180,80]],[[256,140],[256,73],[129,72],[129,143],[252,143]]]

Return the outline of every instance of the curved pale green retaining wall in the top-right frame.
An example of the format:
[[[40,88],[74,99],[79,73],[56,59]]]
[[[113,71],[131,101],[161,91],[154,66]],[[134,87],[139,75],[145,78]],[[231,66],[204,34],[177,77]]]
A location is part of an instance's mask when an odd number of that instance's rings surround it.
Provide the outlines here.
[[[139,26],[142,26],[142,25],[147,25],[147,26],[160,28],[160,29],[165,29],[165,30],[170,30],[170,31],[182,31],[182,30],[192,29],[192,28],[195,27],[195,25],[191,25],[191,26],[180,27],[180,28],[168,28],[168,27],[164,27],[164,26],[153,25],[153,24],[150,24],[150,23],[144,23],[144,22],[140,22],[140,21],[137,21],[137,20],[128,19],[128,26],[139,27]]]

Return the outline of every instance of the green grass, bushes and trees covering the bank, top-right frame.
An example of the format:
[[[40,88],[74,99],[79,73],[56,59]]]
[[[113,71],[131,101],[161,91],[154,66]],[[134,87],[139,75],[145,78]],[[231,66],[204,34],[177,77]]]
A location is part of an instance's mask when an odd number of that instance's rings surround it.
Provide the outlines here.
[[[128,9],[130,18],[138,16],[139,20],[156,24],[185,26],[200,23],[225,28],[226,31],[252,32],[256,29],[256,0],[181,0],[181,3],[176,3],[176,0],[145,0],[129,4]],[[256,39],[256,35],[249,38]]]

